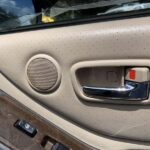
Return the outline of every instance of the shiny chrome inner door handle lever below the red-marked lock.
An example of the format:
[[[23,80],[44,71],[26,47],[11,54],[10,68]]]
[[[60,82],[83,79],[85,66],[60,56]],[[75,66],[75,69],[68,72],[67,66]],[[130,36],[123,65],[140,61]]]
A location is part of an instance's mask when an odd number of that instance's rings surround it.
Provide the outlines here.
[[[83,92],[90,97],[118,100],[146,100],[149,96],[149,82],[136,83],[125,81],[120,88],[99,88],[83,86]]]

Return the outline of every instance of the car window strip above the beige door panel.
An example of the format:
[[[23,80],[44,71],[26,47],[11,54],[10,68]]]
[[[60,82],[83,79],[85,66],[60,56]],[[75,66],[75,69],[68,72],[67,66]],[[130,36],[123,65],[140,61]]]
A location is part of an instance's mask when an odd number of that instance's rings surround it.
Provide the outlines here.
[[[1,0],[0,32],[150,9],[150,0]]]

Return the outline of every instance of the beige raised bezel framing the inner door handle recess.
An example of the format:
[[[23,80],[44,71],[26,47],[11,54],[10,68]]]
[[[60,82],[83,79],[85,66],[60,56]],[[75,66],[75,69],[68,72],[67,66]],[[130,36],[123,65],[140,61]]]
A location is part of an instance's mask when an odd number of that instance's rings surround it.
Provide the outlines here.
[[[82,62],[75,62],[70,70],[71,73],[71,82],[73,90],[76,96],[81,102],[93,103],[92,105],[99,105],[100,103],[104,104],[120,104],[120,105],[150,105],[150,97],[145,100],[114,100],[114,99],[105,99],[98,96],[87,95],[83,92],[83,86],[80,79],[77,76],[77,72],[84,68],[100,68],[100,67],[148,67],[150,68],[150,60],[148,59],[109,59],[109,60],[87,60]],[[90,85],[88,85],[90,86]]]

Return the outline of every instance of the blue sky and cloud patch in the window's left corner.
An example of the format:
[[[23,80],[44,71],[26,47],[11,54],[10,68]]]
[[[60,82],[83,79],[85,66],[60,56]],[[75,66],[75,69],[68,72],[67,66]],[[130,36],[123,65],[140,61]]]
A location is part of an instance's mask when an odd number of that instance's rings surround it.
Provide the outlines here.
[[[0,0],[0,30],[31,25],[34,8],[30,0]]]

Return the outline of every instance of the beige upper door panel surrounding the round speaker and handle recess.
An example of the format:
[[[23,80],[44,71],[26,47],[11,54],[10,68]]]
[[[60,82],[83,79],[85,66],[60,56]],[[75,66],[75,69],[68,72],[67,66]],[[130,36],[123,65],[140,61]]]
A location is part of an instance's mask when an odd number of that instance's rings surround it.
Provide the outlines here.
[[[83,102],[84,98],[77,92],[79,89],[75,87],[75,82],[72,82],[71,73],[74,65],[84,61],[100,62],[100,65],[101,62],[107,61],[108,65],[113,67],[118,65],[149,67],[149,25],[150,17],[143,17],[1,35],[1,72],[18,88],[19,93],[22,91],[22,94],[25,93],[43,107],[46,106],[46,111],[54,111],[62,118],[77,124],[79,126],[77,130],[81,128],[84,132],[88,130],[97,138],[96,134],[99,138],[103,134],[117,140],[126,138],[131,140],[130,142],[150,141],[149,105]],[[61,82],[48,94],[34,90],[26,75],[29,60],[39,54],[49,55],[60,68]],[[2,90],[8,93],[10,89],[5,87]],[[12,92],[11,96],[14,95],[19,101],[21,99],[21,103],[26,101],[25,97],[21,95],[16,97],[15,94],[17,93]],[[141,103],[147,102],[148,100],[145,100]],[[34,107],[31,109],[39,113]],[[47,119],[50,121],[50,118]],[[61,127],[59,122],[56,122],[56,125]],[[80,140],[89,142],[83,135]],[[93,140],[89,144],[95,145]],[[107,145],[108,143],[104,142],[102,147]]]

